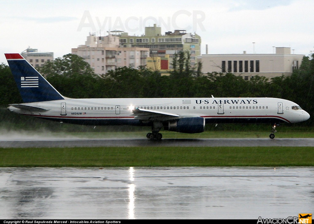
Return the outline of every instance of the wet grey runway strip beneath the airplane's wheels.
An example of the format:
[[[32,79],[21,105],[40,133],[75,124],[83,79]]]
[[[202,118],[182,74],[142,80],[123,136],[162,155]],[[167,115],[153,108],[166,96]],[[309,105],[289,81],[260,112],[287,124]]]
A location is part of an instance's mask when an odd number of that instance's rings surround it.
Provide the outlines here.
[[[311,146],[314,138],[165,138],[160,141],[148,139],[82,139],[38,138],[11,140],[0,139],[0,148],[39,147],[214,147],[214,146]]]

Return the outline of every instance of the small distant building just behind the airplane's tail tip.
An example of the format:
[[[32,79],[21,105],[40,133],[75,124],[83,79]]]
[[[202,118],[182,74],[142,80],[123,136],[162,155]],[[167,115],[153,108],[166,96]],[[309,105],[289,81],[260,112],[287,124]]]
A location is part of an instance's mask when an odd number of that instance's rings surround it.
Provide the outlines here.
[[[27,60],[34,68],[37,68],[47,61],[53,60],[53,52],[38,52],[38,49],[28,48],[24,50],[21,55]]]

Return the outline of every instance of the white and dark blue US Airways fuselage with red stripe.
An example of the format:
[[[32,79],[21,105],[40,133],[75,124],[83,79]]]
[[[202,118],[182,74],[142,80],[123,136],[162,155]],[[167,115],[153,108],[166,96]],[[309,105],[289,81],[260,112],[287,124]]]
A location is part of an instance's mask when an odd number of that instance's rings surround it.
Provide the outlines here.
[[[279,98],[64,99],[21,105],[40,107],[46,111],[36,112],[12,106],[9,110],[60,122],[89,125],[146,126],[147,122],[138,120],[132,113],[134,107],[179,115],[176,118],[204,117],[206,123],[295,123],[310,117],[296,103]],[[163,122],[162,118],[160,121]]]

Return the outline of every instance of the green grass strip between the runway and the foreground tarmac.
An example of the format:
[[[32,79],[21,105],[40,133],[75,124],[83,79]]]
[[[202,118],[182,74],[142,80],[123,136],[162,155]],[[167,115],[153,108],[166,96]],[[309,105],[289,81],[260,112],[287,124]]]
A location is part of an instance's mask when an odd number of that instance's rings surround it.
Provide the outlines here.
[[[0,167],[314,166],[314,147],[0,148]]]

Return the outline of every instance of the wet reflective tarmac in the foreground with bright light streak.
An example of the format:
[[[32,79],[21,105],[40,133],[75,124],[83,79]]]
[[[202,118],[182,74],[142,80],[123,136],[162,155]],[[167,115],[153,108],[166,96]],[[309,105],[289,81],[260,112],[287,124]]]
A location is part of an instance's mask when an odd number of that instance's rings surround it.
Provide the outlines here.
[[[258,219],[314,213],[313,167],[0,168],[2,219]]]

